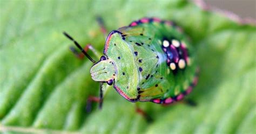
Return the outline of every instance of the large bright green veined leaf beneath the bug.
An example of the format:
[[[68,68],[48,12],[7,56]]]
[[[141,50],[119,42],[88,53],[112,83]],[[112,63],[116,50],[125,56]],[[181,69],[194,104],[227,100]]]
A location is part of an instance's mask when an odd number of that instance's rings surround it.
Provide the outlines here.
[[[91,43],[103,51],[107,30],[142,17],[174,20],[195,47],[198,86],[183,103],[162,107],[138,103],[152,118],[135,111],[115,90],[103,109],[85,111],[98,83],[91,62],[69,51]],[[0,132],[6,133],[256,133],[256,27],[187,1],[0,1]]]

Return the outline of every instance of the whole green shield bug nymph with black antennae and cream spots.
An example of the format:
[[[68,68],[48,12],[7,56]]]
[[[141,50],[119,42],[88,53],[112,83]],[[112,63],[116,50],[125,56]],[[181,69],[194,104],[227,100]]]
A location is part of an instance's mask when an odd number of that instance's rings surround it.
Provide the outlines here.
[[[113,85],[130,102],[170,104],[189,94],[197,83],[192,46],[173,22],[142,18],[110,32],[98,62],[64,34],[93,62],[90,73],[100,82],[100,107],[103,84]]]

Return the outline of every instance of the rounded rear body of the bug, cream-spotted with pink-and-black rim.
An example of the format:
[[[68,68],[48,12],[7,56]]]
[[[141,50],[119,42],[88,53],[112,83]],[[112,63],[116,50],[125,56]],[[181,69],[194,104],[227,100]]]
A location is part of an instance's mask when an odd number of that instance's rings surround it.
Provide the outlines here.
[[[119,29],[131,45],[139,72],[139,101],[172,103],[190,93],[197,81],[190,44],[170,21],[143,18]]]

